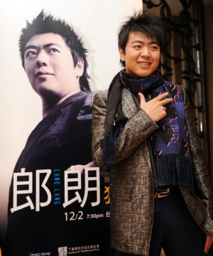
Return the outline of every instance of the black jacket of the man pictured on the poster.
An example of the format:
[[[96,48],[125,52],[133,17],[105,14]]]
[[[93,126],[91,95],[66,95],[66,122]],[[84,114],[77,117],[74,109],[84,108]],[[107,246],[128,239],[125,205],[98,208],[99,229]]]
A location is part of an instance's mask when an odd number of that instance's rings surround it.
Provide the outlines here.
[[[9,195],[9,222],[6,243],[3,247],[4,255],[31,255],[36,252],[51,252],[51,255],[58,255],[58,247],[69,246],[70,243],[77,244],[75,241],[80,241],[82,245],[93,245],[94,239],[97,244],[97,235],[102,236],[100,235],[104,228],[102,225],[91,228],[87,226],[88,222],[65,220],[66,213],[80,209],[79,202],[72,203],[66,208],[62,206],[64,203],[64,171],[70,166],[84,165],[92,161],[92,97],[92,93],[86,92],[78,92],[70,96],[55,107],[28,137],[14,173],[20,173],[24,169],[25,173],[33,174],[33,193],[18,194],[17,205],[28,203],[26,196],[29,196],[34,209],[27,206],[11,213],[11,208],[13,208],[12,181]],[[40,175],[38,183],[35,180],[35,173],[36,170],[45,169],[50,169],[52,173],[43,188],[45,174]],[[84,183],[83,175],[82,183]],[[35,193],[36,186],[40,188],[40,198],[36,198],[38,196],[38,193]],[[52,201],[48,206],[40,205],[40,210],[36,211],[36,200],[39,200],[39,203],[48,200],[45,186],[52,193]],[[18,190],[20,189],[24,191],[28,187],[19,186]],[[72,191],[72,193],[74,192]],[[54,204],[55,194],[60,198],[58,205]],[[83,192],[80,192],[80,196],[83,198]],[[73,197],[75,196],[72,195]],[[88,203],[88,207],[91,207],[91,202]],[[98,210],[102,210],[102,206],[98,206],[96,212]]]

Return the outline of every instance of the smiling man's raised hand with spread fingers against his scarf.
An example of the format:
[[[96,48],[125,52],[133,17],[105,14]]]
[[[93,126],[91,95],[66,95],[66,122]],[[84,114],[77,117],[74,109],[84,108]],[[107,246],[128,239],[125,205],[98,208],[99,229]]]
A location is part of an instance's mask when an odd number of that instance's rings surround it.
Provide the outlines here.
[[[164,105],[173,102],[172,98],[166,98],[168,96],[168,92],[164,92],[161,95],[158,95],[157,97],[153,98],[152,100],[146,102],[145,97],[141,92],[138,93],[140,97],[140,107],[141,110],[145,111],[146,114],[148,114],[151,119],[153,119],[154,122],[158,122],[159,120],[166,117],[166,107]]]

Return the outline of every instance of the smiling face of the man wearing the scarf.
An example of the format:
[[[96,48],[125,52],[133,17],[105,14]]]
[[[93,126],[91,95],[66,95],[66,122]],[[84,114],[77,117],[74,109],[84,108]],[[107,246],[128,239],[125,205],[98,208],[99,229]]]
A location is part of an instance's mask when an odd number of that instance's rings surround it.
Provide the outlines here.
[[[125,53],[119,48],[121,60],[125,61],[126,73],[146,77],[151,75],[160,62],[160,46],[139,31],[129,33]]]

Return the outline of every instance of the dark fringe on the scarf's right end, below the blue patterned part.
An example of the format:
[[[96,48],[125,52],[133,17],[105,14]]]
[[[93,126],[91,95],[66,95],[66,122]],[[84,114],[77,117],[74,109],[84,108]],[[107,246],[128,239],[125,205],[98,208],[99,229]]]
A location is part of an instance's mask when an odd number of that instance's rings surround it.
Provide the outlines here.
[[[157,156],[159,186],[192,186],[192,161],[178,154]]]

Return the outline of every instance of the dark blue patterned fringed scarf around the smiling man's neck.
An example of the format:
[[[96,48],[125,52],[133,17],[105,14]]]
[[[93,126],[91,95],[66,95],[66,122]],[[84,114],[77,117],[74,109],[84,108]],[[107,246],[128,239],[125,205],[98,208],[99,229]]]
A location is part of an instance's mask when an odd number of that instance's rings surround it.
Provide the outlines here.
[[[131,91],[136,105],[139,105],[138,92],[142,92],[146,99],[163,92],[173,98],[173,102],[166,105],[168,115],[158,122],[158,130],[150,137],[156,164],[155,178],[159,186],[192,186],[192,161],[182,92],[177,85],[164,81],[158,71],[141,78],[121,70],[111,82],[102,142],[104,164],[115,162],[116,137],[127,121],[121,110],[122,87]],[[114,118],[109,118],[109,113]]]

